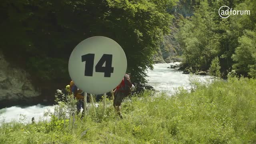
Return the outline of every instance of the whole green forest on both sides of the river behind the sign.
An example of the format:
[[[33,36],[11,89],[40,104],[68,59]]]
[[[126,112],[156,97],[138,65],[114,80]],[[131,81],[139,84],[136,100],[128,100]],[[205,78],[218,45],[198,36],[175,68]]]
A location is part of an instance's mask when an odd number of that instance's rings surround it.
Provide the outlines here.
[[[223,5],[251,14],[221,18],[217,12]],[[146,82],[146,70],[153,68],[153,56],[173,21],[184,67],[210,69],[222,78],[231,70],[256,76],[254,0],[4,0],[0,11],[1,50],[43,91],[49,83],[54,90],[70,81],[73,48],[98,35],[116,40],[132,80]]]

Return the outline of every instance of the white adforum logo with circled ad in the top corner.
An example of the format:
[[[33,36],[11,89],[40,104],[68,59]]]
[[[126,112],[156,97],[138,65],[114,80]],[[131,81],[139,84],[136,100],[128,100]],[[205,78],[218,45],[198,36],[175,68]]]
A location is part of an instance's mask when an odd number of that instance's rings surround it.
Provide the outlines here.
[[[219,9],[219,15],[222,18],[228,18],[230,15],[250,15],[250,10],[233,10],[228,6],[222,6]]]

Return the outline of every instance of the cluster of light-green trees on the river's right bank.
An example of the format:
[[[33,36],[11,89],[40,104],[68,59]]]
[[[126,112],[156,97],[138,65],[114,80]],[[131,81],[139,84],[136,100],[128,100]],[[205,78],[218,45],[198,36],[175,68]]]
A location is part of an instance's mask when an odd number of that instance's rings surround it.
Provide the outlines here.
[[[254,43],[249,44],[249,41],[255,39],[249,32],[255,28],[255,14],[220,18],[218,9],[224,5],[234,10],[252,12],[255,10],[256,2],[254,0],[196,2],[193,16],[180,22],[180,32],[177,35],[185,57],[184,63],[193,69],[206,70],[210,68],[211,61],[218,56],[220,72],[226,73],[233,67],[239,74],[254,77],[255,62],[252,62],[254,58],[250,59],[252,56],[249,56],[249,53],[255,47]]]

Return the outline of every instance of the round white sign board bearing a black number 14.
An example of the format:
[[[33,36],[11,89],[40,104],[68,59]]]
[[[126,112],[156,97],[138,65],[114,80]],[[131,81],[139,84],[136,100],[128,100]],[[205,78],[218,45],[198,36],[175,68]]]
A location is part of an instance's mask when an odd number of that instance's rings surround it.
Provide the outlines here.
[[[93,36],[80,42],[68,61],[68,72],[74,84],[89,94],[110,92],[126,73],[124,50],[114,40]]]

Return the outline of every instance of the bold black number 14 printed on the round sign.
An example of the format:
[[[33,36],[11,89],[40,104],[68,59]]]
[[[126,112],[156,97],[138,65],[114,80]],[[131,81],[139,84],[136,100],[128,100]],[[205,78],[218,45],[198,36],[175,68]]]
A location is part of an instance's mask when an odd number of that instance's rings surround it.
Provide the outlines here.
[[[84,76],[92,76],[95,54],[85,54],[82,56],[82,62],[85,62]],[[106,63],[105,63],[106,62]],[[105,63],[105,66],[103,64]],[[104,72],[104,77],[110,77],[114,72],[112,67],[112,54],[103,54],[95,66],[96,72]]]

